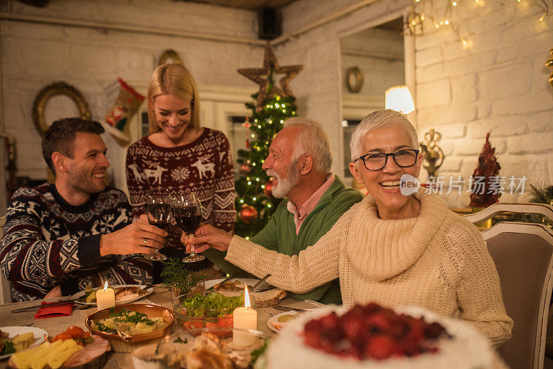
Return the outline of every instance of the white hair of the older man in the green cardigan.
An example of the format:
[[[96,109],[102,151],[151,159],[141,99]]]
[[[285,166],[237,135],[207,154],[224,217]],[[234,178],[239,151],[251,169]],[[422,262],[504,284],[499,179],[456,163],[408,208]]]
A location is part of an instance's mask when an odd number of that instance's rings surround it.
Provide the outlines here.
[[[330,140],[321,124],[308,118],[291,117],[284,122],[284,128],[302,127],[297,135],[297,144],[292,153],[291,162],[296,161],[301,155],[308,153],[313,158],[313,166],[317,173],[328,173],[332,167],[332,151]]]

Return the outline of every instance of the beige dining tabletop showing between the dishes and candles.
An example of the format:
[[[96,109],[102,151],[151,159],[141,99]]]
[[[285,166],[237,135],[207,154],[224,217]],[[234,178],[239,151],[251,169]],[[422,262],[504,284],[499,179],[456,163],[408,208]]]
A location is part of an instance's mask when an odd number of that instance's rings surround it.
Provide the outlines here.
[[[71,325],[76,325],[87,331],[84,321],[90,314],[96,312],[95,305],[77,305],[75,304],[71,315],[61,316],[56,318],[35,319],[35,314],[38,308],[33,310],[26,310],[25,312],[12,313],[12,310],[26,308],[31,305],[38,305],[44,300],[26,301],[20,303],[7,303],[0,305],[0,327],[4,326],[22,326],[32,323],[33,327],[41,328],[48,332],[50,337],[64,332],[66,328]],[[49,299],[47,302],[59,301],[59,299]],[[153,292],[144,298],[135,301],[134,303],[149,303],[161,305],[164,308],[168,308],[172,311],[173,294],[171,289],[162,286],[153,286]],[[278,305],[286,306],[294,309],[311,310],[316,308],[323,308],[325,305],[312,300],[295,300],[290,297],[285,297],[280,301]],[[85,308],[82,308],[82,307]],[[256,308],[257,311],[257,329],[267,334],[268,337],[272,337],[277,334],[271,330],[268,326],[268,320],[274,314],[280,314],[283,311],[277,310],[273,307]],[[185,332],[185,330],[175,322],[171,326],[171,334]],[[8,368],[8,359],[0,361],[0,369]],[[131,353],[112,352],[109,360],[104,366],[106,369],[111,368],[133,368],[133,361]]]

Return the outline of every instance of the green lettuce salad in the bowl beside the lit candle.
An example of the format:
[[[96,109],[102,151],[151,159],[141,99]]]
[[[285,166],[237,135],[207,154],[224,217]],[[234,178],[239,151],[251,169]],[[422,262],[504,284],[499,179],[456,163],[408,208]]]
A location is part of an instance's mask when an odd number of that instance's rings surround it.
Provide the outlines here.
[[[233,309],[243,305],[243,295],[227,297],[217,292],[213,294],[207,294],[207,296],[196,294],[196,296],[182,301],[182,308],[185,308],[187,310],[187,315],[206,316],[208,318],[215,318],[232,314]]]

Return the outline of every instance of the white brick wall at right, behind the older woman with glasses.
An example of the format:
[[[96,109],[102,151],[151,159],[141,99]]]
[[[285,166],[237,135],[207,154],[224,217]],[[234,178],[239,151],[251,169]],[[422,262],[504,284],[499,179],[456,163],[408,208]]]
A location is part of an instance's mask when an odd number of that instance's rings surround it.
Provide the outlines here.
[[[463,35],[469,33],[469,47],[443,27],[415,39],[418,131],[422,135],[434,128],[443,135],[447,158],[438,175],[467,180],[491,131],[500,176],[525,175],[527,191],[530,183],[552,185],[553,88],[544,64],[552,47],[553,19],[539,22],[543,12],[537,4],[460,2],[453,19],[460,21]],[[442,11],[438,8],[436,14]],[[450,95],[444,106],[444,96]],[[444,198],[453,207],[467,207],[470,201],[468,193]],[[500,200],[524,201],[527,196],[505,193]]]

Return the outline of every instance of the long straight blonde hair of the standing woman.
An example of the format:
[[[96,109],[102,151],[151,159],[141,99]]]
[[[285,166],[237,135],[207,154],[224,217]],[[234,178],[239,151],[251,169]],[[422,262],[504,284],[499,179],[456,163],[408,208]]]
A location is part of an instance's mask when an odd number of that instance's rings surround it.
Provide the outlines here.
[[[180,64],[163,64],[158,66],[148,83],[148,121],[149,133],[160,131],[153,113],[153,99],[159,95],[173,95],[182,100],[190,100],[192,114],[190,124],[200,129],[200,100],[198,88],[190,72]]]

